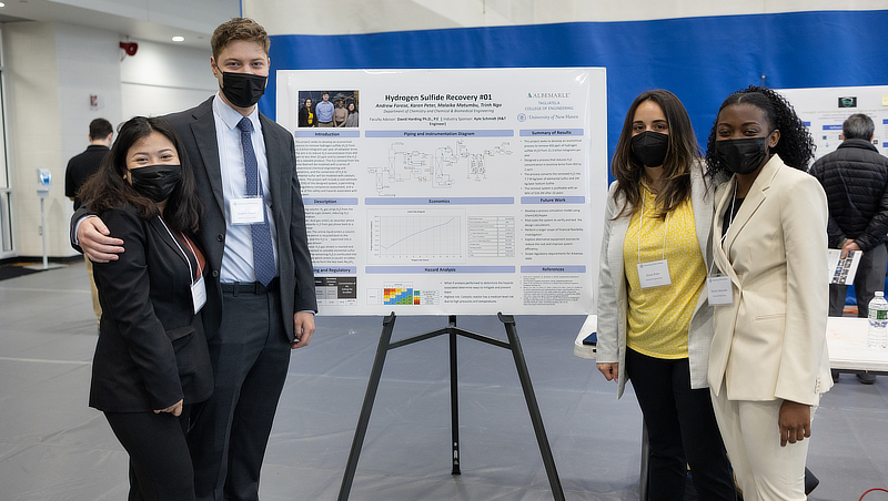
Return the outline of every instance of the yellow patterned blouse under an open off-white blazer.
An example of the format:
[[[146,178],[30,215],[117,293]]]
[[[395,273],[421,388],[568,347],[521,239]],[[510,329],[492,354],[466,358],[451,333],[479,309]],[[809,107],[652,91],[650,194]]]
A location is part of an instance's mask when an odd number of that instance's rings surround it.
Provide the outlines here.
[[[690,200],[666,221],[657,218],[656,197],[643,190],[643,206],[632,216],[623,242],[629,307],[626,346],[655,358],[687,358],[687,331],[706,283]],[[672,285],[642,288],[638,263],[666,259]]]

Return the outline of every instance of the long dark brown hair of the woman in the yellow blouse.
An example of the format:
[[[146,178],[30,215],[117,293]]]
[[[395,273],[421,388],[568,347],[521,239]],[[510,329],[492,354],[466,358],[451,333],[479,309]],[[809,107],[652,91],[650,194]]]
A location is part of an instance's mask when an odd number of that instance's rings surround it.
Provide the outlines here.
[[[645,166],[632,152],[632,123],[635,120],[635,111],[646,101],[659,105],[669,125],[669,149],[663,161],[663,184],[657,194],[658,217],[665,219],[669,212],[690,197],[690,168],[695,160],[700,156],[690,117],[682,101],[672,92],[662,89],[647,91],[636,98],[626,112],[616,153],[610,161],[610,172],[617,181],[615,195],[623,195],[626,201],[616,217],[635,214],[642,203],[640,182]]]

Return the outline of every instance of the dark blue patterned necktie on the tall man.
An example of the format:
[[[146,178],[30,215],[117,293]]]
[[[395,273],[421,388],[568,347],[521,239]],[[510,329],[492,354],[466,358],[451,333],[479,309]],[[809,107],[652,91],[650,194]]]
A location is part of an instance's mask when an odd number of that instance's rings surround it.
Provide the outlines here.
[[[243,167],[246,175],[246,196],[262,197],[262,188],[259,186],[259,163],[253,151],[253,122],[244,116],[238,122],[241,130],[241,146],[243,146]],[[265,214],[264,203],[262,213]],[[274,278],[274,250],[271,243],[271,228],[269,227],[269,216],[264,215],[265,221],[251,225],[253,234],[253,268],[256,282],[268,286]]]

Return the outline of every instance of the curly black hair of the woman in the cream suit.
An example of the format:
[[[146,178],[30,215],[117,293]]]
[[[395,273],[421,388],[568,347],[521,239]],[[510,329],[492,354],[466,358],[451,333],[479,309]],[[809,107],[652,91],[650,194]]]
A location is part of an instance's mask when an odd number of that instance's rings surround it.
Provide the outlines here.
[[[780,160],[790,167],[806,171],[808,161],[814,157],[814,139],[808,127],[798,117],[793,105],[777,91],[764,86],[749,85],[728,96],[718,108],[709,141],[706,145],[706,175],[715,178],[722,173],[730,173],[715,155],[716,129],[722,110],[731,104],[751,104],[765,112],[771,130],[780,131],[780,140],[770,153],[780,155]]]

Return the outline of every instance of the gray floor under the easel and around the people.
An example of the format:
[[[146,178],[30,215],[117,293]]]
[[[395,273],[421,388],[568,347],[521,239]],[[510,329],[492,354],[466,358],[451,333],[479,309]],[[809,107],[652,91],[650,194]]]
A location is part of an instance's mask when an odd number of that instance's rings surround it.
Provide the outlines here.
[[[87,407],[97,335],[83,264],[0,282],[0,499],[123,500],[127,453]],[[495,317],[460,327],[505,338]],[[568,500],[638,499],[642,418],[630,389],[573,356],[582,317],[517,317]],[[400,317],[395,338],[443,327]],[[334,500],[382,317],[319,317],[293,354],[265,457],[262,499]],[[463,474],[450,474],[444,337],[389,355],[352,500],[548,500],[545,469],[508,351],[460,340]],[[842,376],[823,399],[808,466],[813,500],[857,500],[888,483],[888,377]],[[867,499],[876,498],[874,493]],[[885,499],[885,498],[878,498]]]

